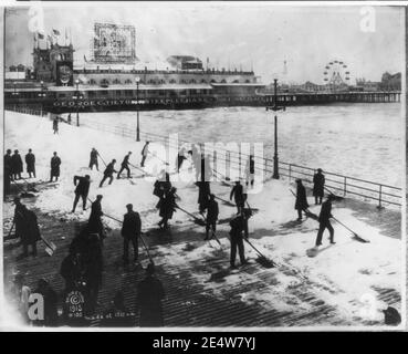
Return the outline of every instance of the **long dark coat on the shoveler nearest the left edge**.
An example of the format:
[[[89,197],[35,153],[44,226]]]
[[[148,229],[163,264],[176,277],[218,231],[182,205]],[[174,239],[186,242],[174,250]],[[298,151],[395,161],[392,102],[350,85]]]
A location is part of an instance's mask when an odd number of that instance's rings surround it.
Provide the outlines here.
[[[39,223],[33,211],[23,205],[17,205],[14,210],[15,237],[23,244],[32,244],[41,239]]]

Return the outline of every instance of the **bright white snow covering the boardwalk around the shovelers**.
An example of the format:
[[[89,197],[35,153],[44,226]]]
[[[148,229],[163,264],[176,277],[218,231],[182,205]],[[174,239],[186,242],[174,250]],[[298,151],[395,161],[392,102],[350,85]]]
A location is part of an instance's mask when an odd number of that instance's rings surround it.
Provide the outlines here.
[[[48,180],[50,159],[54,150],[62,159],[60,184],[56,184],[55,188],[41,191],[35,207],[60,218],[86,220],[88,210],[80,211],[81,204],[77,206],[77,212],[71,214],[70,211],[75,188],[73,176],[90,174],[92,179],[90,198],[94,199],[97,194],[102,194],[104,196],[102,206],[105,214],[122,219],[122,215],[126,212],[125,205],[132,202],[134,209],[142,215],[144,229],[147,230],[155,226],[159,217],[155,209],[157,197],[153,195],[154,179],[140,178],[143,173],[132,168],[134,178],[130,180],[115,178],[111,186],[105,183],[103,188],[98,188],[102,173],[91,171],[86,167],[92,147],[98,149],[106,163],[116,158],[116,169],[119,169],[127,152],[133,152],[130,163],[139,166],[142,142],[136,143],[130,138],[66,124],[61,124],[60,134],[53,135],[52,123],[49,119],[10,112],[6,114],[6,148],[18,148],[22,155],[32,148],[38,160],[39,178]],[[151,149],[155,149],[155,143],[151,144]],[[165,156],[160,155],[160,157]],[[156,174],[161,168],[164,164],[160,159],[150,156],[146,170]],[[187,174],[187,168],[189,164],[184,166],[184,174]],[[100,169],[104,169],[101,160]],[[198,192],[192,183],[176,181],[174,185],[178,188],[180,207],[191,212],[197,211]],[[290,188],[295,190],[294,186],[290,186],[286,181],[272,180],[263,186],[262,192],[249,195],[251,207],[259,209],[259,212],[250,220],[251,242],[265,257],[274,260],[279,267],[268,270],[271,277],[268,278],[270,283],[266,283],[266,287],[244,290],[240,293],[239,300],[249,304],[261,304],[269,309],[307,313],[313,310],[313,305],[299,296],[302,291],[305,291],[336,308],[338,316],[345,323],[380,324],[383,316],[379,310],[386,308],[386,304],[377,300],[377,291],[391,289],[400,293],[401,240],[381,235],[379,229],[369,225],[368,221],[365,222],[354,217],[352,210],[334,206],[333,215],[359,236],[369,239],[370,243],[360,243],[352,239],[349,231],[333,222],[337,243],[328,247],[326,231],[321,252],[315,258],[308,258],[306,250],[315,243],[318,223],[313,219],[306,219],[303,222],[294,221],[297,215]],[[229,198],[230,188],[226,185],[213,183],[211,190],[218,197]],[[227,220],[218,225],[218,235],[224,253],[219,250],[216,241],[195,240],[156,246],[153,253],[160,256],[155,259],[157,264],[184,267],[185,269],[192,266],[195,273],[191,275],[198,284],[215,296],[228,299],[229,289],[238,289],[260,281],[260,274],[237,270],[227,273],[219,281],[211,279],[212,274],[224,271],[229,266],[228,219],[236,212],[234,207],[220,200],[219,206],[219,219]],[[317,206],[313,205],[310,209],[314,214],[320,212]],[[4,217],[8,218],[11,215],[12,207],[6,204]],[[112,228],[118,227],[116,221],[106,218],[104,221]],[[191,218],[180,210],[175,214],[171,223],[174,230],[186,227],[191,232],[203,233],[202,227],[191,223]],[[258,258],[249,244],[245,244],[245,253],[252,262]],[[205,260],[213,258],[224,260],[221,268],[205,267]]]

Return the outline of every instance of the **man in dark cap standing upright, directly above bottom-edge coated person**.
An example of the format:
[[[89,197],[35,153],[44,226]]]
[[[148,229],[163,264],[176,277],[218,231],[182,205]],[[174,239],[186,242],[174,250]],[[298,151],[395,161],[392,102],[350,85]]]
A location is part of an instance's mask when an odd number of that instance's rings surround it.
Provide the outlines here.
[[[138,212],[133,210],[133,205],[126,206],[127,212],[124,215],[121,235],[123,237],[123,261],[124,264],[129,262],[129,242],[133,244],[134,261],[138,261],[137,239],[142,231],[142,221]]]

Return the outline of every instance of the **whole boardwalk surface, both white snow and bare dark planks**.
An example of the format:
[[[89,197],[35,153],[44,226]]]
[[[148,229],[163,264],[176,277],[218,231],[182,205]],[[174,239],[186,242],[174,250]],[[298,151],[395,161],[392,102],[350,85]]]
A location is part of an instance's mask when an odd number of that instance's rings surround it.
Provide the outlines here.
[[[127,202],[133,202],[135,210],[140,212],[143,230],[148,233],[145,240],[167,293],[164,302],[166,326],[378,326],[384,324],[381,309],[393,305],[400,311],[405,263],[398,209],[377,210],[375,205],[351,199],[335,202],[333,215],[370,242],[356,241],[349,231],[333,222],[337,243],[328,246],[325,233],[318,256],[308,258],[306,250],[314,246],[317,222],[313,219],[295,221],[297,215],[290,191],[290,188],[294,189],[293,184],[284,179],[269,180],[262,192],[249,195],[249,204],[259,210],[250,219],[249,231],[251,242],[278,267],[262,268],[255,261],[257,253],[245,244],[245,256],[251,263],[229,271],[228,221],[237,211],[236,207],[219,200],[217,235],[222,243],[221,251],[216,241],[203,241],[203,228],[181,211],[170,220],[171,232],[158,231],[153,181],[142,178],[137,169],[132,170],[132,179],[115,179],[111,186],[97,188],[102,174],[86,167],[91,148],[95,146],[105,160],[119,160],[133,150],[132,163],[138,165],[142,142],[86,127],[81,127],[82,134],[77,134],[79,128],[65,125],[61,127],[60,136],[54,136],[46,119],[11,113],[6,119],[7,147],[15,146],[21,152],[33,148],[40,178],[49,176],[53,150],[57,150],[62,159],[60,183],[39,185],[35,198],[23,199],[30,209],[36,211],[42,235],[53,241],[57,250],[50,258],[43,244],[39,243],[38,258],[15,261],[21,250],[12,247],[14,241],[7,241],[7,283],[11,274],[22,272],[31,288],[39,278],[45,277],[61,293],[60,264],[67,254],[75,225],[85,222],[90,214],[88,210],[77,210],[75,215],[70,212],[75,188],[73,176],[90,174],[90,198],[93,200],[102,194],[102,208],[106,215],[122,219]],[[27,129],[18,128],[22,124]],[[41,140],[31,134],[34,131],[44,132]],[[151,145],[154,148],[155,144]],[[146,163],[150,173],[154,173],[154,158]],[[159,168],[163,166],[157,170]],[[187,174],[188,168],[186,164],[181,174]],[[174,185],[180,196],[179,206],[198,216],[197,187],[182,180]],[[211,191],[228,199],[230,186],[211,183]],[[310,196],[310,209],[318,214],[320,206],[312,205],[312,201]],[[3,209],[3,231],[8,232],[13,208],[6,202]],[[117,290],[123,290],[126,305],[134,309],[136,285],[144,271],[134,266],[123,268],[119,225],[106,218],[104,222],[112,231],[103,250],[105,270],[98,310],[102,312],[109,305]],[[140,260],[146,267],[148,260],[139,246]],[[98,323],[95,321],[93,324]],[[138,325],[137,317],[135,325]]]

